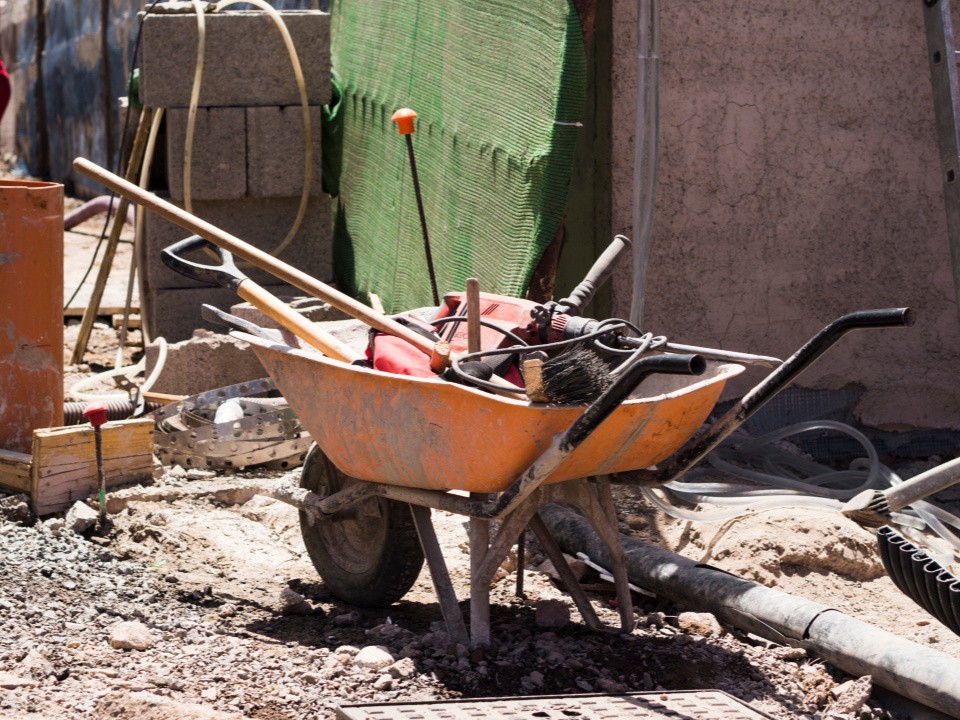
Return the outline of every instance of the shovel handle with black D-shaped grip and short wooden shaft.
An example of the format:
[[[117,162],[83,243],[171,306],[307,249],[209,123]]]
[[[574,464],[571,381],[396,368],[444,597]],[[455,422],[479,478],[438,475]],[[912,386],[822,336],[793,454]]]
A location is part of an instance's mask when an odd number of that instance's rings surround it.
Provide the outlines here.
[[[202,265],[182,257],[201,248],[211,248],[216,251],[222,264]],[[281,327],[286,328],[297,337],[303,338],[324,355],[342,362],[366,364],[360,352],[322,330],[244,275],[233,262],[233,255],[229,250],[218,248],[199,235],[193,235],[165,248],[161,252],[161,258],[167,267],[188,278],[233,290],[241,298],[279,323]]]

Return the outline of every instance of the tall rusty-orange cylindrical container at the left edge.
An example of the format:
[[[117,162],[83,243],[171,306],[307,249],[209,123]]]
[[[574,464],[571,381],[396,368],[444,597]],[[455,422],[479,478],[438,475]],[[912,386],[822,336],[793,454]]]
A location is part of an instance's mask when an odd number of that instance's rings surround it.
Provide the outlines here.
[[[63,185],[0,180],[0,448],[63,424]]]

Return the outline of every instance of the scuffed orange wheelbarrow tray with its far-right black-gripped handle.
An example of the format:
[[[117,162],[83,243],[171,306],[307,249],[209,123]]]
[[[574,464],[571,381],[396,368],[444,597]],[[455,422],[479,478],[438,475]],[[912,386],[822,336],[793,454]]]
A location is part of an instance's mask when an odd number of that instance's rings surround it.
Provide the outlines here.
[[[636,377],[617,382],[608,405],[577,447],[539,484],[595,475],[631,474],[661,484],[682,474],[786,387],[846,332],[910,325],[909,308],[844,315],[821,330],[698,439],[732,363],[697,365],[681,355],[644,358]],[[346,364],[310,349],[239,333],[324,454],[343,474],[369,483],[447,492],[501,493],[547,454],[591,410],[531,403],[439,378],[390,375]],[[680,360],[680,358],[684,358]],[[659,363],[659,364],[658,364]],[[641,363],[642,365],[642,363]],[[627,375],[625,373],[624,375]],[[637,381],[639,387],[634,388]],[[633,383],[634,385],[631,385]],[[602,404],[597,401],[594,405]],[[593,406],[591,406],[593,407]],[[595,409],[595,408],[594,408]],[[678,450],[683,448],[683,452]],[[666,464],[661,465],[667,461]],[[657,470],[644,470],[660,465]],[[642,472],[641,472],[642,471]]]

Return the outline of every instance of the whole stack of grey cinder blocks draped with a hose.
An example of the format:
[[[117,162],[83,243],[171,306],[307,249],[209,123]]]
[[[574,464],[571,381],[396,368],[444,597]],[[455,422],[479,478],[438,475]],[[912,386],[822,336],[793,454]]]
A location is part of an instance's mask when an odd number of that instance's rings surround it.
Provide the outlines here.
[[[321,280],[332,277],[330,198],[320,183],[321,106],[330,100],[329,15],[282,12],[307,89],[311,126],[310,199],[300,230],[277,257]],[[273,20],[261,12],[205,15],[206,40],[192,145],[194,215],[273,252],[292,227],[304,185],[303,108],[293,66]],[[184,206],[183,166],[197,57],[197,18],[149,14],[142,30],[140,99],[166,110],[166,188]],[[154,188],[151,188],[154,189]],[[189,338],[209,327],[200,306],[228,308],[226,290],[203,286],[163,265],[160,251],[188,231],[147,213],[141,249],[141,310],[152,337]],[[272,275],[244,268],[280,295],[293,290]]]

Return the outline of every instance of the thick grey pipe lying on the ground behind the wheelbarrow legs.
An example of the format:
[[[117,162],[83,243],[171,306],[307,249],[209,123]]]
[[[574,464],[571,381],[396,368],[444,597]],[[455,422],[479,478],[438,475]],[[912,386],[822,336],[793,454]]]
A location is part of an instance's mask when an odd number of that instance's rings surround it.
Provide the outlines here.
[[[560,546],[609,567],[610,556],[587,520],[558,505],[540,515]],[[815,652],[844,672],[960,717],[960,660],[855,620],[826,605],[744,580],[621,535],[630,581],[729,625]]]

